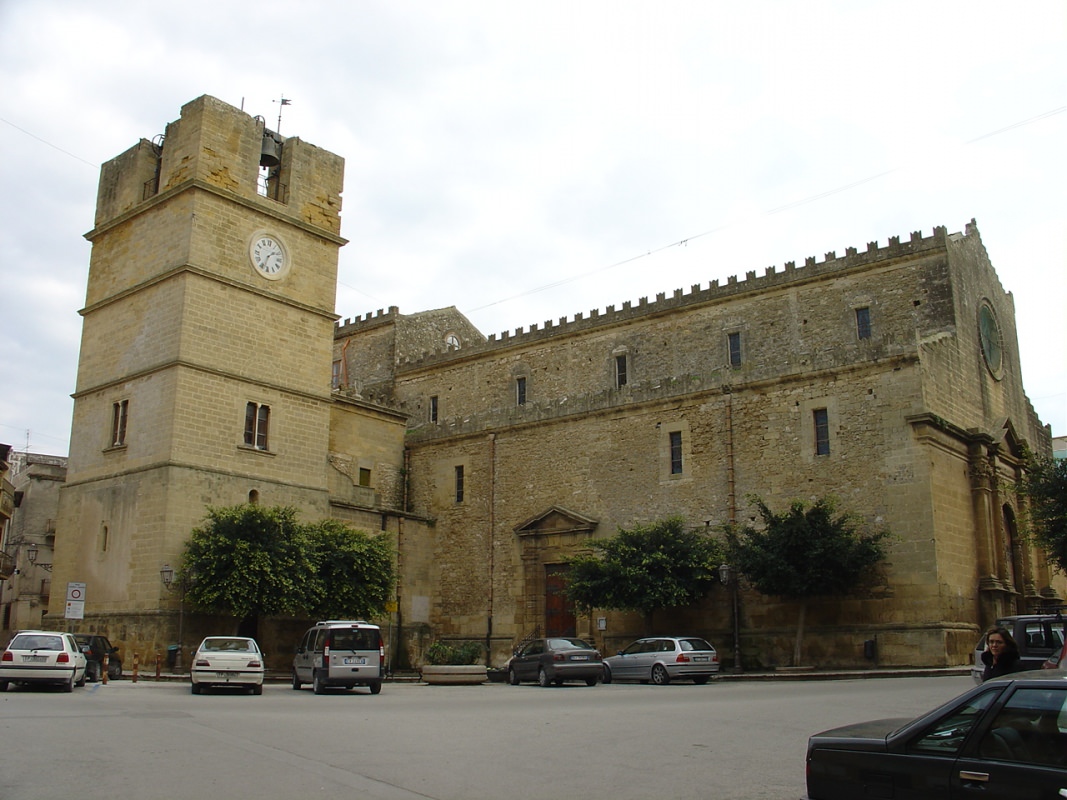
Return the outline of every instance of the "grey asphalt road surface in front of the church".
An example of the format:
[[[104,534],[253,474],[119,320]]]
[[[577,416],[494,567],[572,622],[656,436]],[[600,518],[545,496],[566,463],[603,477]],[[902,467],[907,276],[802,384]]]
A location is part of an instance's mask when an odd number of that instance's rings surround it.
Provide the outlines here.
[[[192,695],[186,684],[0,694],[0,800],[338,797],[762,800],[803,795],[810,734],[914,716],[969,677],[706,686],[386,684]]]

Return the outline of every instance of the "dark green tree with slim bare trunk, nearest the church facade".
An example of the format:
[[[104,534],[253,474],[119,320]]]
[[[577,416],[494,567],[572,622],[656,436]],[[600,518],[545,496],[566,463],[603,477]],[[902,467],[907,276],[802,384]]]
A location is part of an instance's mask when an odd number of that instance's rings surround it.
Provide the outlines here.
[[[797,602],[793,665],[799,666],[808,602],[857,591],[886,558],[889,531],[866,530],[859,517],[837,513],[829,498],[810,506],[794,500],[780,514],[759,497],[751,502],[763,526],[728,527],[729,558],[761,594]]]

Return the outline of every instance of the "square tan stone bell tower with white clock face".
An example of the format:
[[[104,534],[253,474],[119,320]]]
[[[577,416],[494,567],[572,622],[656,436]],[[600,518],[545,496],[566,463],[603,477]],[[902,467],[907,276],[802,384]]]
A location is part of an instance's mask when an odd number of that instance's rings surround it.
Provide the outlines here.
[[[343,178],[339,156],[208,96],[103,164],[50,619],[84,582],[75,627],[165,645],[160,570],[206,507],[328,515]]]

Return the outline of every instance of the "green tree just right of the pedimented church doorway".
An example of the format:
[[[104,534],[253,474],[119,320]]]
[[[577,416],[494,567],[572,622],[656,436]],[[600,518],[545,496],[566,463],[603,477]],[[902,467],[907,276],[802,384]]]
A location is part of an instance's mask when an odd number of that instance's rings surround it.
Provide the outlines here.
[[[721,560],[718,541],[673,516],[589,542],[568,560],[566,591],[583,608],[640,611],[651,634],[653,612],[700,599]]]

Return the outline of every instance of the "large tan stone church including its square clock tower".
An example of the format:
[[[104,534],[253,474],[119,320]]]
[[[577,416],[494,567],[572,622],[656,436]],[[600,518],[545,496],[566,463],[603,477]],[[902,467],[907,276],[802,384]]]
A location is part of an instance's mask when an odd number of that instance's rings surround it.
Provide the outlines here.
[[[746,521],[750,495],[893,533],[885,587],[809,609],[810,662],[871,666],[873,640],[880,666],[959,665],[994,617],[1060,602],[1013,492],[1050,432],[973,223],[487,337],[455,308],[338,320],[343,173],[207,96],[103,165],[53,565],[85,583],[76,629],[142,654],[232,629],[161,571],[207,506],[249,501],[391,538],[397,669],[434,638],[497,666],[536,630],[614,652],[641,620],[576,613],[566,558]],[[654,625],[787,663],[796,610],[739,595],[736,628],[724,587]],[[304,622],[261,631],[272,667]]]

